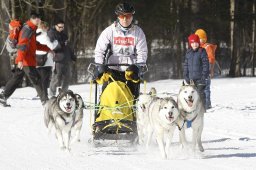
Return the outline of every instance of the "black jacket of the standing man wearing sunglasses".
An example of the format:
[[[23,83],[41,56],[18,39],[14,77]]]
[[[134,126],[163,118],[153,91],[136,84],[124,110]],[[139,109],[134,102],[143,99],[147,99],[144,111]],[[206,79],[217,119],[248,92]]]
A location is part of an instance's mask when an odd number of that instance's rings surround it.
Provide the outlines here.
[[[53,49],[53,51],[55,52],[55,56],[53,60],[55,62],[66,63],[66,60],[68,60],[65,55],[65,51],[66,51],[65,48],[68,40],[67,35],[63,31],[58,32],[54,27],[51,28],[47,34],[51,42],[53,42],[54,40],[57,40],[59,42],[58,46],[55,49]]]

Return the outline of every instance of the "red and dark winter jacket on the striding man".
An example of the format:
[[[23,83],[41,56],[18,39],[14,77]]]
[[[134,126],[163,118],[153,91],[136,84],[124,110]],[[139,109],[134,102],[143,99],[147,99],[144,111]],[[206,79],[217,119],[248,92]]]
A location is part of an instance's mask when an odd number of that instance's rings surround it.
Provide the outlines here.
[[[23,66],[36,66],[36,50],[49,51],[46,45],[36,42],[37,26],[27,21],[19,33],[18,51],[15,63],[22,62]]]

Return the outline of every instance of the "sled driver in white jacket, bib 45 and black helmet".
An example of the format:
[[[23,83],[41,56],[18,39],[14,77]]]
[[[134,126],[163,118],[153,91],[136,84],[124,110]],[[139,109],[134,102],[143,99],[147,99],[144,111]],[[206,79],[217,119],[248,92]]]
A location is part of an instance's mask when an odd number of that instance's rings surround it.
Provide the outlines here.
[[[110,67],[112,76],[116,80],[126,81],[125,71],[127,70],[133,72],[132,79],[139,79],[139,68],[135,64],[146,64],[148,48],[144,32],[133,23],[134,13],[134,7],[127,2],[116,6],[117,21],[101,33],[96,44],[95,63],[101,65],[98,68],[98,75],[95,75],[96,78],[101,75],[101,71],[106,69],[104,64],[130,64],[128,68]],[[107,51],[110,52],[107,54]],[[138,84],[128,81],[127,85],[137,98]]]

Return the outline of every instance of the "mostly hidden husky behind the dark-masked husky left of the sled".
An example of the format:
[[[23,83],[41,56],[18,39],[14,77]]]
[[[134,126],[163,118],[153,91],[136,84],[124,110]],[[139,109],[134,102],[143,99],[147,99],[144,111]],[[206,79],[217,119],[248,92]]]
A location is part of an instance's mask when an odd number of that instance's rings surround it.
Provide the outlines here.
[[[71,131],[75,133],[75,136],[71,143],[73,143],[74,141],[80,142],[80,132],[81,132],[81,128],[83,124],[83,116],[84,116],[83,110],[85,107],[82,97],[79,94],[75,94],[75,96],[77,100],[77,108],[74,114],[74,122],[71,129]]]

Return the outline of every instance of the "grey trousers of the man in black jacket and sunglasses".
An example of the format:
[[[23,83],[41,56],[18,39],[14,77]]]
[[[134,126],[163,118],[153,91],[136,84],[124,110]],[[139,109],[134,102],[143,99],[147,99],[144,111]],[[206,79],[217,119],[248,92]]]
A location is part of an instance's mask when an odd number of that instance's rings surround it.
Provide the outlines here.
[[[50,82],[50,96],[55,96],[57,87],[61,86],[62,90],[66,91],[69,87],[71,77],[71,71],[69,63],[55,63],[55,68],[52,72],[52,78]]]

